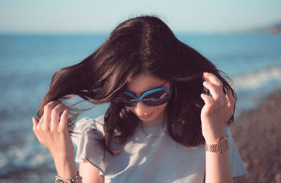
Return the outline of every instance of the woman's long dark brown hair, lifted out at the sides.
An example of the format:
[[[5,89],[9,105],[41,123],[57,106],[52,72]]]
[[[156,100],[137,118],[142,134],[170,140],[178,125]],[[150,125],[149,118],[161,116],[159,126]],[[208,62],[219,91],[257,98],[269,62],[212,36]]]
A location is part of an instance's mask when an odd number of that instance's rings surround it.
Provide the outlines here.
[[[231,89],[236,99],[227,77],[214,64],[180,42],[159,18],[141,16],[119,24],[84,61],[55,72],[37,116],[41,117],[46,103],[64,101],[71,95],[94,104],[110,103],[104,119],[104,144],[114,154],[110,141],[115,132],[119,132],[119,143],[124,143],[133,134],[138,118],[112,99],[131,78],[142,72],[174,83],[173,96],[166,107],[167,132],[184,146],[204,143],[200,120],[204,101],[200,94],[207,91],[202,86],[203,72],[216,75],[223,82],[223,91]],[[78,113],[74,108],[70,110],[74,114],[69,120],[72,124]]]

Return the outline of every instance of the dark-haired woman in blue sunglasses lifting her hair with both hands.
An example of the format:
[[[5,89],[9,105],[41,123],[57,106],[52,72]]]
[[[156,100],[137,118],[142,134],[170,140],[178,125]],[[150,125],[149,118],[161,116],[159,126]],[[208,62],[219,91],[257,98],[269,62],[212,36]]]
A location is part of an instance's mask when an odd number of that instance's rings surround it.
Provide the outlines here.
[[[74,123],[71,95],[110,106]],[[141,16],[55,72],[33,130],[51,151],[56,182],[232,182],[247,173],[228,127],[235,99],[207,58],[159,18]]]

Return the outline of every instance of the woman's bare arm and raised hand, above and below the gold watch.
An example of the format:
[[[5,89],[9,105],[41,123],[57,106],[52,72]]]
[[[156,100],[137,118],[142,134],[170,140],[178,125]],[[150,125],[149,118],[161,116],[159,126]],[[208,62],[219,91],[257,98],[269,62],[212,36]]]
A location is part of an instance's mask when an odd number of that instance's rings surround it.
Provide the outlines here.
[[[204,87],[209,89],[211,97],[202,94],[205,105],[202,108],[202,134],[205,141],[214,143],[226,137],[226,123],[233,115],[234,98],[229,89],[223,93],[223,84],[218,78],[204,72]],[[228,153],[212,153],[206,151],[206,182],[233,182]]]

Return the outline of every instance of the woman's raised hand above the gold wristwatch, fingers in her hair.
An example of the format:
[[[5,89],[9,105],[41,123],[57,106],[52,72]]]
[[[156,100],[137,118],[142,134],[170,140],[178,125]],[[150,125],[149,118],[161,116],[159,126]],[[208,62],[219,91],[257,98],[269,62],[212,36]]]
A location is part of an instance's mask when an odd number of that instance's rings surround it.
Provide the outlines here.
[[[233,115],[235,99],[231,89],[223,93],[223,83],[216,75],[204,72],[203,86],[209,89],[211,96],[201,94],[205,105],[201,111],[202,134],[207,142],[215,142],[226,137],[226,124]]]

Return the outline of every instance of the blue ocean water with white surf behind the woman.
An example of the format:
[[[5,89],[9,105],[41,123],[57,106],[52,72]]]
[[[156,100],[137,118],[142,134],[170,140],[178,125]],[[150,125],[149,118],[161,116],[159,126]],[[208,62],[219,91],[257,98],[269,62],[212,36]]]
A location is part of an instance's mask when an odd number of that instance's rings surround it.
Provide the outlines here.
[[[51,154],[32,132],[32,116],[55,70],[82,61],[107,34],[0,35],[0,182],[51,182]],[[281,35],[177,34],[233,80],[237,113],[281,88]],[[107,105],[84,115],[95,118]]]

